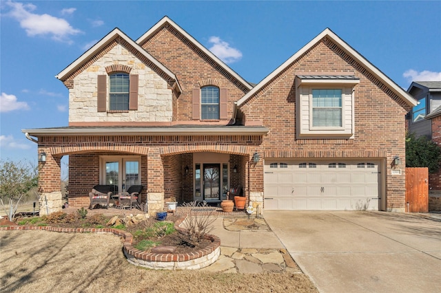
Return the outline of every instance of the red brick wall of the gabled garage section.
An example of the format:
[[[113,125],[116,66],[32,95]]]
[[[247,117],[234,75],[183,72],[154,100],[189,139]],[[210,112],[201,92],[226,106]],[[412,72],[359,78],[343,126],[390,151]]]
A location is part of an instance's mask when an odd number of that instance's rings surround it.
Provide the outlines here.
[[[336,50],[336,52],[334,52]],[[378,83],[360,65],[322,41],[298,61],[271,80],[254,95],[241,111],[247,120],[262,120],[270,129],[260,151],[265,158],[376,158],[387,159],[387,208],[404,208],[404,168],[402,175],[391,176],[393,155],[404,162],[404,116],[410,107]],[[295,72],[355,72],[360,84],[355,87],[355,138],[353,140],[296,140]],[[397,104],[400,103],[400,105]],[[269,107],[270,105],[270,107]],[[260,153],[262,156],[262,153]],[[250,169],[250,188],[263,190],[263,162]]]

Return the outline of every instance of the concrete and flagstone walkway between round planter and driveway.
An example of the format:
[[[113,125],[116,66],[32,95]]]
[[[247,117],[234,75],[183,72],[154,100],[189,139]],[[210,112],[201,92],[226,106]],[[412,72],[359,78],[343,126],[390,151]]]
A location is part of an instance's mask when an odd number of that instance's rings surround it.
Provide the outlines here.
[[[212,234],[220,238],[220,257],[206,272],[258,274],[301,273],[264,219],[218,217]]]

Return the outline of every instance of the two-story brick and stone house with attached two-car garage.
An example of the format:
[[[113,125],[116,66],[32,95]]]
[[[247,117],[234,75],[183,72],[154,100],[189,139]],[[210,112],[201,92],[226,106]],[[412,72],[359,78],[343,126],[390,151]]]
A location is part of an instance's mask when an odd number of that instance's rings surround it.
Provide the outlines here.
[[[237,186],[260,211],[404,211],[416,101],[329,29],[254,87],[168,17],[136,41],[116,28],[57,78],[68,127],[23,129],[51,200],[69,155],[74,207],[112,183],[145,186],[150,213]]]

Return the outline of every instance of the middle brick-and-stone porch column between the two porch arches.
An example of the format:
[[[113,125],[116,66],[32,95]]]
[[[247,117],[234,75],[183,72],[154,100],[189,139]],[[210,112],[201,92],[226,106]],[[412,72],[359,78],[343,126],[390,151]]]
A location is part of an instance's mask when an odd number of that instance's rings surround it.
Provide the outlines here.
[[[164,166],[158,148],[147,155],[147,210],[150,215],[164,210]]]

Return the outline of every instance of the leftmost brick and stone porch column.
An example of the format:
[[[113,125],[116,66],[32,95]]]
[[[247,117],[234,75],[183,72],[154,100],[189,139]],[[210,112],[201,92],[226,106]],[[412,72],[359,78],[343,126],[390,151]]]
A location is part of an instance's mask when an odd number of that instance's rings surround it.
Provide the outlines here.
[[[46,162],[39,162],[39,204],[40,215],[59,212],[63,206],[61,195],[61,156],[52,156],[48,149],[39,148],[46,153]]]

